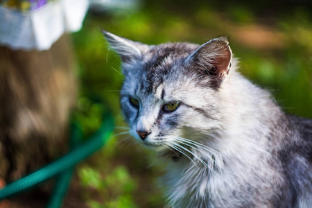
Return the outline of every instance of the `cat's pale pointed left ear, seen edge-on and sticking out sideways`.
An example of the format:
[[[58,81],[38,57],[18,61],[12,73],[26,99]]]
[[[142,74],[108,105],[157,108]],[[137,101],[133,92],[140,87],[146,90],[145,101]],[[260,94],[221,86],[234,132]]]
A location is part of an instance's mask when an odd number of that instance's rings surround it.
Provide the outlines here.
[[[128,62],[132,58],[141,58],[141,55],[148,51],[148,45],[139,42],[119,37],[102,29],[106,40],[110,42],[112,49],[114,49],[121,57],[123,62]]]

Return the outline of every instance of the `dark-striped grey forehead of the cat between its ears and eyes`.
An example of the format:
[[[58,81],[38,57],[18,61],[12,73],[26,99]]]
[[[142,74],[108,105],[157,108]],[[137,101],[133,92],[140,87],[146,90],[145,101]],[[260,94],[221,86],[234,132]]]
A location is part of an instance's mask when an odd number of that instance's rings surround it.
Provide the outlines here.
[[[150,47],[141,60],[123,64],[132,90],[140,96],[164,98],[183,79],[182,62],[198,48],[196,44],[168,43]],[[175,87],[174,87],[175,86]]]

